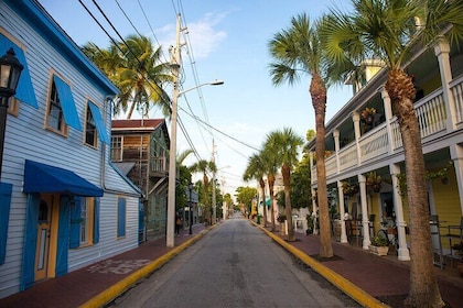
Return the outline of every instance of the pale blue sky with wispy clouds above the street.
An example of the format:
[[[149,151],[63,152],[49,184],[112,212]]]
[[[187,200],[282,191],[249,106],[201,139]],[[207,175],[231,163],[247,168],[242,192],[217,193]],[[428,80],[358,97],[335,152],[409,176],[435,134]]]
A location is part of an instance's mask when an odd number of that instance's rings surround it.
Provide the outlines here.
[[[267,134],[291,128],[305,140],[315,129],[309,95],[310,76],[290,86],[273,86],[269,74],[272,58],[269,41],[288,29],[292,16],[306,13],[315,20],[335,6],[345,10],[342,0],[39,0],[51,16],[77,45],[93,42],[109,46],[108,34],[117,41],[137,32],[149,36],[154,47],[163,50],[169,62],[169,46],[175,45],[175,23],[182,20],[181,89],[176,152],[192,148],[201,160],[214,161],[216,178],[223,193],[235,195],[245,183],[248,158],[262,148]],[[97,9],[100,7],[105,16]],[[97,24],[84,8],[103,25]],[[223,80],[222,86],[204,85]],[[172,88],[165,89],[172,94]],[[329,89],[326,120],[352,97],[352,89]],[[192,117],[193,116],[193,117]],[[152,109],[150,118],[163,118]],[[141,112],[132,117],[140,119]],[[201,121],[197,121],[200,119]],[[204,124],[207,123],[207,124]],[[171,123],[168,122],[170,130]],[[214,152],[213,152],[214,144]],[[190,155],[184,164],[197,162]],[[201,178],[196,175],[194,179]]]

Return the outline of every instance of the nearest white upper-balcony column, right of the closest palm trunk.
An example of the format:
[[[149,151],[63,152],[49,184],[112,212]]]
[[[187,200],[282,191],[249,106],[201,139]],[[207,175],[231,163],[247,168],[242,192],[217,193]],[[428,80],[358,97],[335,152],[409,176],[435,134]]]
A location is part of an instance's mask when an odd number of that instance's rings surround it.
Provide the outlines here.
[[[434,45],[434,54],[438,57],[439,70],[442,82],[442,95],[444,98],[446,110],[446,131],[452,132],[456,129],[456,110],[452,91],[450,90],[450,81],[452,81],[452,69],[450,66],[450,45],[444,37],[440,37]]]

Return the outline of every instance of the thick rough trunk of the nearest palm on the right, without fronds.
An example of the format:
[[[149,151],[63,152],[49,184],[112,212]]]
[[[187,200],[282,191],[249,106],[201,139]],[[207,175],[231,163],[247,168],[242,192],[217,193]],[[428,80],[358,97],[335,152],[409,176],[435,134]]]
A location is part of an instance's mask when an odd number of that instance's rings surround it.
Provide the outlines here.
[[[386,90],[399,120],[406,162],[412,252],[410,290],[406,302],[410,304],[410,307],[443,307],[444,302],[433,270],[424,156],[420,128],[413,109],[414,87],[411,77],[401,69],[390,70]]]

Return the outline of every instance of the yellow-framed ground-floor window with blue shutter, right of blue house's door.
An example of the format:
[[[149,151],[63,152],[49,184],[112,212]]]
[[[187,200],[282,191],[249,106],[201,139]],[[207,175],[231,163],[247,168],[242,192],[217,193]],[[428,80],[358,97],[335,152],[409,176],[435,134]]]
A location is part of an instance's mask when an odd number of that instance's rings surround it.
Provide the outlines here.
[[[99,198],[74,197],[71,206],[69,249],[99,241]]]

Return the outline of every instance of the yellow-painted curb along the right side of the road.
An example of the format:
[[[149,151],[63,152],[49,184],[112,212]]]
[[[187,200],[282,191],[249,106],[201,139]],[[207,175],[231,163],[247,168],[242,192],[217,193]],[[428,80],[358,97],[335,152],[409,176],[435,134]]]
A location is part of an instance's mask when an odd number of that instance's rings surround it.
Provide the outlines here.
[[[364,307],[372,307],[372,308],[387,308],[386,304],[379,301],[358,286],[354,285],[336,272],[330,270],[329,267],[324,266],[320,262],[315,261],[313,257],[310,257],[308,254],[305,254],[303,251],[294,248],[293,245],[287,243],[284,240],[282,240],[280,237],[274,235],[272,232],[268,231],[263,227],[257,224],[256,222],[251,221],[255,226],[259,227],[263,232],[267,233],[273,241],[276,241],[278,244],[280,244],[282,248],[288,250],[290,253],[292,253],[295,257],[301,260],[304,264],[310,266],[313,271],[322,275],[326,280],[332,283],[334,286],[336,286],[338,289],[344,292],[346,295],[348,295],[351,298],[353,298],[355,301],[360,304]]]

